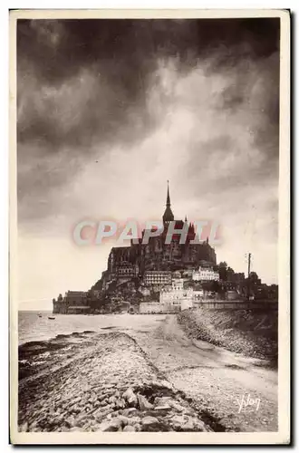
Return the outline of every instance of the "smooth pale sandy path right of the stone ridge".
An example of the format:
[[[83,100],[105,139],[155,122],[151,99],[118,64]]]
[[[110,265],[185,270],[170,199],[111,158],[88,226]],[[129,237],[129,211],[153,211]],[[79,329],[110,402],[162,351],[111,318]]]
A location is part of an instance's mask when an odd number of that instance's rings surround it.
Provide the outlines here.
[[[143,331],[136,327],[127,333],[139,342],[150,360],[178,390],[184,390],[224,427],[241,431],[277,430],[277,373],[263,368],[262,361],[207,342],[189,340],[174,315],[151,323]],[[255,404],[239,410],[237,400],[246,401],[248,395]]]

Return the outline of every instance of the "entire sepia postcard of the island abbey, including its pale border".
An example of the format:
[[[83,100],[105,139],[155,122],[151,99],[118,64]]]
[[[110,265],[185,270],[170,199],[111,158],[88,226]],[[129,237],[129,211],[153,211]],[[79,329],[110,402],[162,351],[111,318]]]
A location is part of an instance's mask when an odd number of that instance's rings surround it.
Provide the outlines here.
[[[289,12],[10,17],[14,444],[287,444]]]

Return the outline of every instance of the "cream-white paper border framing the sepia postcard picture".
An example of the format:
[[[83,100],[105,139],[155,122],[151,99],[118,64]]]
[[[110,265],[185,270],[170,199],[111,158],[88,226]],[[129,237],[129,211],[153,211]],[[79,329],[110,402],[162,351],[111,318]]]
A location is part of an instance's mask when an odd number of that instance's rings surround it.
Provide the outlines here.
[[[18,18],[281,18],[281,116],[280,116],[280,193],[279,193],[279,288],[284,308],[279,315],[279,431],[276,433],[18,433],[17,400],[17,304],[16,282],[16,137],[15,137],[15,19]],[[12,12],[10,16],[10,300],[11,300],[11,439],[16,444],[275,444],[288,443],[289,421],[289,168],[290,168],[290,21],[281,10],[35,10]],[[101,439],[99,439],[101,438]]]

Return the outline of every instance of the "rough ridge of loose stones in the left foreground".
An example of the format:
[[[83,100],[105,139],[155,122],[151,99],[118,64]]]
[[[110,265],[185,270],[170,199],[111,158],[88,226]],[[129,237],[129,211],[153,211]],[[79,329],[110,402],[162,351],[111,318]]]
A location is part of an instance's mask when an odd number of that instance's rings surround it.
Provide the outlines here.
[[[97,334],[19,382],[19,430],[209,431],[125,333]]]

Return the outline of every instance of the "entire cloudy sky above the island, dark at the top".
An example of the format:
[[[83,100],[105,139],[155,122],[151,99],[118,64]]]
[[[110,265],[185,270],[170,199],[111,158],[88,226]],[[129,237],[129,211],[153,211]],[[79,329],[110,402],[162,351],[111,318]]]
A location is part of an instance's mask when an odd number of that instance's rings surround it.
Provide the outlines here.
[[[87,290],[82,219],[222,226],[217,260],[277,282],[279,20],[19,20],[20,308]]]

